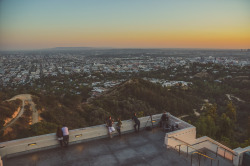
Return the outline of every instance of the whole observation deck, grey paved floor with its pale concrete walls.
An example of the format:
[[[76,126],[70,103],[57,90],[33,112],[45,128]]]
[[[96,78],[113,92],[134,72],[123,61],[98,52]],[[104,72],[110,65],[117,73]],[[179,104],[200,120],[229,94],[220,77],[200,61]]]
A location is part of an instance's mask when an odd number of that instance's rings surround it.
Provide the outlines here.
[[[141,131],[133,121],[122,121],[122,136],[108,138],[105,125],[70,130],[69,146],[60,147],[55,133],[0,143],[3,166],[23,165],[214,165],[238,166],[250,147],[230,148],[209,137],[196,138],[196,128],[172,115],[169,125],[158,128],[161,114],[139,118]],[[113,125],[115,126],[115,124]],[[152,130],[144,130],[146,127]]]

